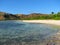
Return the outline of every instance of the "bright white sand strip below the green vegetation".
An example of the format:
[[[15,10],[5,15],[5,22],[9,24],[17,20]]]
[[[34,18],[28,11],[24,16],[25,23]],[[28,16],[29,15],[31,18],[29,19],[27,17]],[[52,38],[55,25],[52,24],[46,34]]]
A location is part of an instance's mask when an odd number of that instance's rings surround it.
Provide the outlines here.
[[[22,22],[60,25],[60,20],[22,20]]]

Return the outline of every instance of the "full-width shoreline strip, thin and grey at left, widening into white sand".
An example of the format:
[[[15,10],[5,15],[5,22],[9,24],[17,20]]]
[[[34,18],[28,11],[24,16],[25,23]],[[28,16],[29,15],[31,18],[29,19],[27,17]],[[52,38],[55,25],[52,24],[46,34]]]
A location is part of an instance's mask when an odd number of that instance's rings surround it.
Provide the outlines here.
[[[1,20],[1,21],[20,21],[26,23],[41,23],[60,26],[60,20]]]

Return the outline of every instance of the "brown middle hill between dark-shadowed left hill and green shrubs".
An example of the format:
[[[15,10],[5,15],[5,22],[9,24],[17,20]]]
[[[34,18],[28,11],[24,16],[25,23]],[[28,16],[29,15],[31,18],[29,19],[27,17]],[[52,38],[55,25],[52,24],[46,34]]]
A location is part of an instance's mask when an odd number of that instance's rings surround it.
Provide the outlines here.
[[[21,20],[33,20],[33,19],[38,19],[41,16],[48,16],[48,14],[40,14],[40,13],[31,13],[31,14],[16,14],[17,16],[20,17]]]

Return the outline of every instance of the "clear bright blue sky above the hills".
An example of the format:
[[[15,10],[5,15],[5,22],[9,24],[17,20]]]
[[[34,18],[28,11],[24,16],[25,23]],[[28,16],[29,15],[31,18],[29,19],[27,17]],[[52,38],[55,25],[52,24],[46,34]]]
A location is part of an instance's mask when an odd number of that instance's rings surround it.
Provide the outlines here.
[[[0,0],[0,11],[12,14],[60,12],[60,0]]]

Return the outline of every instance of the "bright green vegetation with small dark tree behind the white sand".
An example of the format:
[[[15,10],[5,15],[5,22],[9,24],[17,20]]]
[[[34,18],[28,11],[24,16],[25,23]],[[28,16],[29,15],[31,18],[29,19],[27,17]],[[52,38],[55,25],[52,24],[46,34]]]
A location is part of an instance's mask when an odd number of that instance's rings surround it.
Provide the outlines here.
[[[51,14],[34,14],[29,18],[23,18],[23,20],[60,20],[60,12],[58,12],[57,14],[54,14],[54,12],[52,12]]]

